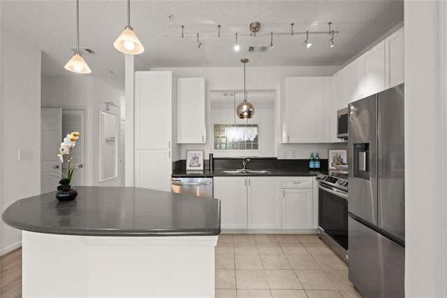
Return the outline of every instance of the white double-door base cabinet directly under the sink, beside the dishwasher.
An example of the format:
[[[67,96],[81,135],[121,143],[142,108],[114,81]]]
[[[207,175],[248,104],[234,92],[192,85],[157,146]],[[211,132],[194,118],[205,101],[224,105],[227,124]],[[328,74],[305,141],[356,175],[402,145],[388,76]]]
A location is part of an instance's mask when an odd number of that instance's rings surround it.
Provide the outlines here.
[[[213,183],[222,229],[281,228],[278,177],[214,177]]]

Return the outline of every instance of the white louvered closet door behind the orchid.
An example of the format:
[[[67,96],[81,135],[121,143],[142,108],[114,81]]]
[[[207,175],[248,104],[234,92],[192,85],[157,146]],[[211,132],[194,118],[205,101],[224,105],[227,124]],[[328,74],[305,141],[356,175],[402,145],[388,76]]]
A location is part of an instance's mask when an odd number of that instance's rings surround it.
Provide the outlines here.
[[[71,185],[85,185],[85,110],[62,110],[62,134],[66,136],[72,132],[79,132],[80,138],[76,146],[71,148],[71,163],[78,166],[71,178]],[[60,145],[60,142],[59,142]],[[66,173],[67,164],[62,164],[62,171]]]

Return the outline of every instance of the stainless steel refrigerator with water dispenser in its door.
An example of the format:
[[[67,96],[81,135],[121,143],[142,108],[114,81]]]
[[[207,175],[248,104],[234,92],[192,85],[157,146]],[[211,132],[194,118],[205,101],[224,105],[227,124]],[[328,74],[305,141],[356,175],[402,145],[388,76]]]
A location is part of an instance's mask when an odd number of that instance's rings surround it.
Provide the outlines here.
[[[404,297],[404,85],[349,104],[349,280]]]

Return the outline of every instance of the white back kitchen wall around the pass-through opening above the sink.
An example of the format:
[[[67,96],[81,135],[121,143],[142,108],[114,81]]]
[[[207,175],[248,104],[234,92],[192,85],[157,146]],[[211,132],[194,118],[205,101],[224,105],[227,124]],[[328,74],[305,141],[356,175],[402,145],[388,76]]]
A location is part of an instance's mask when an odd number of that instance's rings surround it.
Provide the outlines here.
[[[277,98],[280,100],[281,80],[286,76],[332,76],[339,70],[339,66],[274,66],[274,67],[250,67],[246,68],[247,90],[276,90]],[[205,78],[205,94],[207,102],[207,111],[210,111],[210,90],[243,90],[244,73],[242,65],[240,67],[186,67],[186,68],[152,68],[151,71],[173,71],[177,78]],[[256,104],[253,103],[256,108]],[[209,113],[208,113],[209,115]],[[278,115],[278,114],[277,114]],[[256,117],[256,116],[255,116]],[[253,118],[255,121],[255,118]],[[210,135],[209,118],[207,118],[207,134]],[[294,152],[295,158],[306,159],[310,152],[321,152],[321,158],[328,157],[330,148],[346,148],[345,144],[280,144],[279,120],[275,118],[275,144],[274,156],[279,156],[282,151]],[[205,157],[212,149],[212,140],[207,138],[207,143],[186,144],[181,146],[182,159],[186,156],[186,150],[197,149],[205,150]],[[243,152],[239,156],[244,155]]]

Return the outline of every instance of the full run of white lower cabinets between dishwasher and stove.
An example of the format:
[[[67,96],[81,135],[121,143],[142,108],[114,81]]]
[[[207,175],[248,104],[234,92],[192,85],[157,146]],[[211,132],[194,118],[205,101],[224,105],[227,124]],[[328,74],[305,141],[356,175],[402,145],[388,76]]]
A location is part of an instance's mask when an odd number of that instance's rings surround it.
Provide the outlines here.
[[[222,229],[316,229],[318,194],[307,176],[214,177]]]

